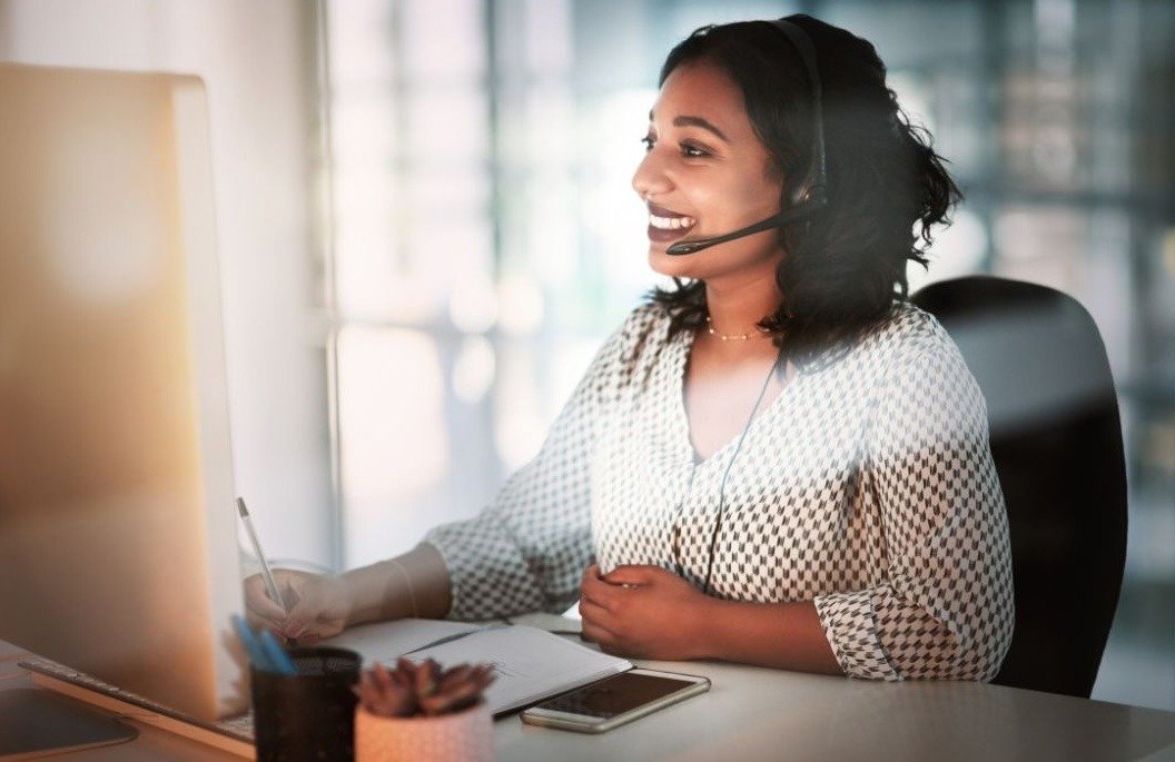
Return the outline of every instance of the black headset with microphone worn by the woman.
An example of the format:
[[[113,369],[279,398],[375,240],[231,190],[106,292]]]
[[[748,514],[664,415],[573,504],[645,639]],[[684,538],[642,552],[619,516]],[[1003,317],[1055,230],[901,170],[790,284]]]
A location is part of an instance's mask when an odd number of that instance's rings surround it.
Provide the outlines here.
[[[807,173],[804,176],[804,181],[792,193],[787,208],[779,214],[725,235],[711,238],[697,238],[694,241],[679,241],[669,247],[666,254],[674,256],[693,254],[719,243],[741,238],[743,236],[750,236],[756,232],[770,230],[771,228],[781,228],[791,222],[808,217],[828,205],[828,167],[824,150],[824,107],[821,103],[820,73],[815,65],[815,48],[812,46],[812,40],[807,33],[799,25],[787,19],[777,19],[774,21],[766,21],[765,23],[770,23],[779,29],[787,38],[788,42],[791,42],[792,47],[795,48],[795,52],[799,53],[812,89],[812,161],[808,163]]]

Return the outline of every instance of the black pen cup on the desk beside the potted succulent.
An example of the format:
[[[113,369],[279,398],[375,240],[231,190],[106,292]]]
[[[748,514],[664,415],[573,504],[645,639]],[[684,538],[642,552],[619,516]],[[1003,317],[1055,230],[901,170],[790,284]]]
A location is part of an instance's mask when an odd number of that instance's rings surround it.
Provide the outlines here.
[[[258,762],[351,762],[351,687],[362,659],[345,648],[295,648],[296,675],[253,669],[253,719]]]

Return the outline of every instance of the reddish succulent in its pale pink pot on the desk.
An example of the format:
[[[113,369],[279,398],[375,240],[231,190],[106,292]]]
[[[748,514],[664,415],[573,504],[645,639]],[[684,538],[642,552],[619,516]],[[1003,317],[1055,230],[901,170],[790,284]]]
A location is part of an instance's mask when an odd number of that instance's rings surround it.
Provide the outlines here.
[[[488,665],[376,663],[355,686],[356,762],[489,762],[494,724],[482,693],[491,682]]]

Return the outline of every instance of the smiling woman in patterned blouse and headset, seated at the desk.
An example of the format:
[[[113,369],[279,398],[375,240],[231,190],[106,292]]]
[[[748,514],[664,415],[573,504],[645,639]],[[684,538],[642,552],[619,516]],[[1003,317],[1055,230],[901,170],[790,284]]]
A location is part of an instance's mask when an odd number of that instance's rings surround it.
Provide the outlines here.
[[[1012,571],[985,404],[905,301],[958,190],[868,42],[781,21],[670,53],[633,188],[676,288],[604,345],[536,459],[400,559],[286,573],[288,616],[250,580],[255,618],[314,640],[579,596],[585,638],[619,654],[994,676]],[[670,251],[781,207],[795,220]]]

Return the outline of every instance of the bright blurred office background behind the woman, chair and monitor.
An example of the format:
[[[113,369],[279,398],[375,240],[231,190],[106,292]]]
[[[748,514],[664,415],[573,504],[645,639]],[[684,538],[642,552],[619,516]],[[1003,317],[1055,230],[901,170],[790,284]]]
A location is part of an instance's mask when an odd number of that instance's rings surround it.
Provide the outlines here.
[[[966,195],[912,285],[1045,283],[1120,391],[1126,582],[1094,697],[1175,709],[1175,2],[0,0],[0,60],[208,82],[239,491],[322,567],[474,514],[653,283],[629,180],[670,47],[865,36]]]

